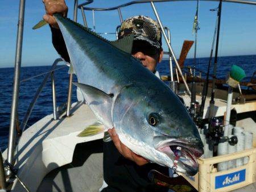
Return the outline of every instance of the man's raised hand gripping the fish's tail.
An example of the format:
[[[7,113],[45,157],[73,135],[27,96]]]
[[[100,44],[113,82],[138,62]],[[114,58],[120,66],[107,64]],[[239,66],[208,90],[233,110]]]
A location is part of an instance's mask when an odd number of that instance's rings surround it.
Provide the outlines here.
[[[55,18],[52,16],[55,13],[60,13],[67,16],[68,7],[64,0],[43,0],[44,7],[46,8],[46,15],[43,19],[49,23],[53,28],[59,28]]]

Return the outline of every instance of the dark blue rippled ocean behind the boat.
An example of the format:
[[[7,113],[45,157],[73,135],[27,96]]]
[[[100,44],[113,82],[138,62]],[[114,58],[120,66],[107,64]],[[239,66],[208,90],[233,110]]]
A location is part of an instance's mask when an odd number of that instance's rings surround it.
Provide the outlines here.
[[[209,58],[200,58],[197,59],[196,62],[196,68],[207,72]],[[253,76],[254,71],[256,71],[256,55],[219,57],[217,65],[217,78],[225,79],[233,64],[239,65],[245,70],[246,78],[243,81],[250,81],[250,77]],[[187,59],[185,61],[185,66],[193,66],[193,59]],[[46,74],[31,78],[29,80],[27,79],[38,74],[48,72],[50,69],[51,66],[31,66],[21,68],[20,80],[23,81],[20,83],[18,103],[18,118],[20,123],[26,114],[27,108],[34,97],[36,90]],[[68,67],[63,67],[60,65],[57,66],[56,69],[58,69],[55,71],[56,99],[57,105],[59,106],[67,102],[69,76]],[[158,71],[160,75],[170,74],[169,61],[163,60],[160,64],[158,64]],[[13,93],[13,77],[14,68],[0,68],[0,148],[2,151],[6,149],[8,142],[11,99]],[[76,78],[74,78],[74,81],[76,81]],[[75,101],[76,87],[73,86],[72,102]],[[26,128],[30,127],[39,119],[42,119],[44,116],[51,113],[52,90],[51,80],[49,78],[46,86],[40,94],[40,97],[38,98],[38,101],[35,104],[30,119],[26,124]]]

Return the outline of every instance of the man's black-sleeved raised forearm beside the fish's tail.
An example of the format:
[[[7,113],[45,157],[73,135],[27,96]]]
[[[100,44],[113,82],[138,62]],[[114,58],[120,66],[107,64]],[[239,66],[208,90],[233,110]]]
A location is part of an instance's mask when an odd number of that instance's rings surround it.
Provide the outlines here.
[[[52,44],[59,55],[67,62],[70,62],[67,47],[65,45],[65,41],[63,39],[63,35],[59,29],[51,27],[52,31]]]

